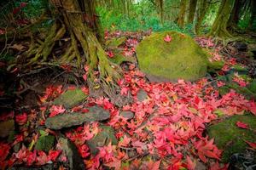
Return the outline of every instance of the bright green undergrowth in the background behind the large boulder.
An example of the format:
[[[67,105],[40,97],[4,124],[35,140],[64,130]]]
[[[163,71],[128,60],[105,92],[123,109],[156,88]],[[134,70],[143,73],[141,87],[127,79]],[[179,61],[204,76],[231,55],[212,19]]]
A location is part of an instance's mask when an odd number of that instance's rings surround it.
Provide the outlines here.
[[[157,14],[148,14],[148,10],[143,11],[143,15],[138,6],[135,7],[134,15],[127,17],[125,14],[117,14],[113,10],[107,8],[97,8],[100,15],[100,21],[103,28],[110,31],[147,31],[152,28],[153,31],[180,31],[190,36],[195,36],[193,25],[187,25],[183,29],[170,20],[165,20],[163,24]],[[151,11],[152,12],[152,11]]]

